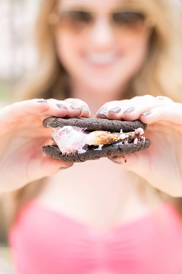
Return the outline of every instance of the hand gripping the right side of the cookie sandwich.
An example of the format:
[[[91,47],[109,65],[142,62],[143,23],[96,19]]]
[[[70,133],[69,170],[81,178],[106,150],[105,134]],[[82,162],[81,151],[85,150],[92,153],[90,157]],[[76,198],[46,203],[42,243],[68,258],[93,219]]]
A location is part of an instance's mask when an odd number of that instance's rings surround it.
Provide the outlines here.
[[[147,123],[144,134],[152,141],[149,149],[109,159],[155,188],[182,197],[182,104],[168,97],[137,96],[104,104],[96,117]]]

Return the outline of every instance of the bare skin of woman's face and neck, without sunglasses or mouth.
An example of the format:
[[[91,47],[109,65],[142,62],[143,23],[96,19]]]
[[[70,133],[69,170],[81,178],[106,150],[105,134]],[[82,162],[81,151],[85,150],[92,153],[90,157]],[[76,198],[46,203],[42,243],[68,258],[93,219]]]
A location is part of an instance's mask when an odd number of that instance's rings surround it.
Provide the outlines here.
[[[108,14],[116,11],[120,6],[123,7],[124,2],[120,0],[59,2],[61,10],[79,7],[97,15],[93,26],[85,32],[75,34],[62,29],[59,25],[55,30],[56,49],[62,64],[69,72],[72,97],[89,102],[93,114],[103,103],[121,99],[128,81],[138,72],[145,60],[150,31],[144,27],[141,32],[126,35],[123,30],[116,31],[109,22]],[[87,57],[92,53],[108,52],[113,52],[117,56],[116,61],[111,65],[96,66],[87,62]],[[97,100],[93,100],[93,96]]]

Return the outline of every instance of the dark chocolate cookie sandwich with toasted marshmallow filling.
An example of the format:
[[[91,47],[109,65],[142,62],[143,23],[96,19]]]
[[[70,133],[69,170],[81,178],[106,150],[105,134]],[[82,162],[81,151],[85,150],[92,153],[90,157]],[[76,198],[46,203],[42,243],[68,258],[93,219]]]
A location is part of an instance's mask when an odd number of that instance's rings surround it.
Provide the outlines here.
[[[49,117],[43,126],[53,128],[53,139],[58,144],[43,146],[44,153],[64,162],[135,153],[151,144],[143,135],[147,125],[140,120]]]

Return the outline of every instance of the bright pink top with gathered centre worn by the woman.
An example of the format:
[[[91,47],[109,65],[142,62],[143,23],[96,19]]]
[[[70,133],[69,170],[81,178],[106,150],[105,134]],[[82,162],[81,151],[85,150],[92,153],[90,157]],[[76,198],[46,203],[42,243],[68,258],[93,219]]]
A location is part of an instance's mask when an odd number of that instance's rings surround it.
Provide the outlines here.
[[[19,274],[181,274],[182,223],[172,204],[132,223],[99,232],[36,200],[9,233]]]

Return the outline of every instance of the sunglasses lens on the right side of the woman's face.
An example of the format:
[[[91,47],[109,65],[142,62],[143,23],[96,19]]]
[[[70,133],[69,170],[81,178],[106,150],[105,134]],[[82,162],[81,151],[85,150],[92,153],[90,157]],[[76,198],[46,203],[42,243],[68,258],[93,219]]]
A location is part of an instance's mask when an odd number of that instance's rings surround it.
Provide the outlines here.
[[[121,26],[137,27],[143,25],[144,16],[138,12],[115,12],[113,13],[113,21]]]

